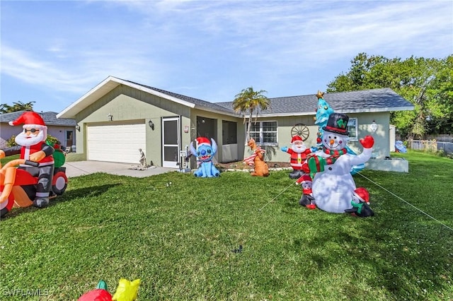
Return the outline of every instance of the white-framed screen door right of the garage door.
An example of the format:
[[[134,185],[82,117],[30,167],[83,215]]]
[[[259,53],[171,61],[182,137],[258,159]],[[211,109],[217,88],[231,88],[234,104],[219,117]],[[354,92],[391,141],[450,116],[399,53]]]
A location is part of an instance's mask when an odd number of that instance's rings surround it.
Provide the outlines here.
[[[162,119],[162,166],[178,168],[179,162],[179,117]]]

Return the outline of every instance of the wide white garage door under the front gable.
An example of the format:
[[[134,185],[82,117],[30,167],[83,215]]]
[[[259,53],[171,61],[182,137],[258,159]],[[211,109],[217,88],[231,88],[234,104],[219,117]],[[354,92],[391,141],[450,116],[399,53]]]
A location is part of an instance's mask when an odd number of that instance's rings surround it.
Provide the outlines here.
[[[139,164],[145,150],[145,125],[120,124],[87,127],[87,159]]]

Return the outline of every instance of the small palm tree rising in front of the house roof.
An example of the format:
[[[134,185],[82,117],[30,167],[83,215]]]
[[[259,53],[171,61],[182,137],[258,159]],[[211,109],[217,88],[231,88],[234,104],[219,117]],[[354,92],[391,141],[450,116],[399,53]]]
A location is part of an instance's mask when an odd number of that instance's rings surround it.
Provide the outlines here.
[[[236,113],[244,114],[243,122],[246,123],[246,114],[248,114],[248,124],[246,131],[246,141],[250,138],[250,130],[252,126],[253,113],[256,112],[258,117],[259,110],[267,110],[270,107],[270,101],[263,95],[267,93],[265,90],[255,91],[252,87],[243,89],[237,94],[233,100],[233,110]]]

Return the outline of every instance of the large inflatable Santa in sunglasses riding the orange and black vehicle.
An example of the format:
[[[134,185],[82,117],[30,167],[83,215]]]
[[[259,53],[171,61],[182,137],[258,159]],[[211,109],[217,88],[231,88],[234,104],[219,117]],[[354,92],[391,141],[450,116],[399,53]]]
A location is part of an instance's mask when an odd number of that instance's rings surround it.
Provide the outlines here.
[[[47,138],[47,126],[40,114],[36,112],[23,112],[18,119],[9,122],[11,126],[23,124],[20,134],[16,136],[18,146],[12,146],[0,150],[0,158],[8,155],[21,154],[21,159],[40,163],[39,167],[21,165],[19,168],[26,170],[33,177],[38,177],[36,196],[33,205],[45,207],[49,204],[49,194],[52,188],[52,176],[54,174],[54,148],[45,143]]]

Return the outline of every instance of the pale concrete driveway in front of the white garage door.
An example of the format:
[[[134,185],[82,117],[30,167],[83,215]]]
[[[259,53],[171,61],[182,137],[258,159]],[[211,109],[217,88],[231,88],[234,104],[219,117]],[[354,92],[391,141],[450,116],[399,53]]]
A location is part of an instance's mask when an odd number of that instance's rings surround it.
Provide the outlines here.
[[[147,170],[137,170],[137,165],[129,163],[101,162],[101,161],[76,161],[64,163],[67,177],[79,177],[95,172],[106,172],[112,175],[126,175],[130,177],[149,177],[165,172],[178,171],[177,168],[152,167]]]

